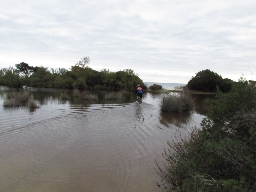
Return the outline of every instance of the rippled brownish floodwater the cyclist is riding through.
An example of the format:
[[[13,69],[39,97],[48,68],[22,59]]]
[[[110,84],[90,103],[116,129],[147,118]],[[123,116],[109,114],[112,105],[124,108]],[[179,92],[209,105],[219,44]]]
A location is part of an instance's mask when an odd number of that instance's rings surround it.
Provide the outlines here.
[[[1,192],[157,192],[155,159],[176,132],[199,127],[206,109],[161,113],[159,94],[131,100],[61,99],[72,90],[26,88],[40,108],[4,108],[0,86]]]

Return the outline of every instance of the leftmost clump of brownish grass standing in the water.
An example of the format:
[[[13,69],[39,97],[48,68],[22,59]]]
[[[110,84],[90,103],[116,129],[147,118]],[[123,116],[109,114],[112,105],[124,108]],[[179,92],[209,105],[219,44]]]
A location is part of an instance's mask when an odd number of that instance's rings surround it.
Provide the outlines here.
[[[26,106],[29,108],[39,108],[39,105],[35,102],[28,92],[9,92],[4,99],[4,107],[20,107]]]

